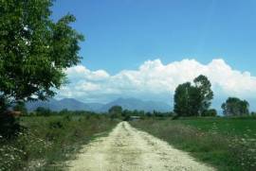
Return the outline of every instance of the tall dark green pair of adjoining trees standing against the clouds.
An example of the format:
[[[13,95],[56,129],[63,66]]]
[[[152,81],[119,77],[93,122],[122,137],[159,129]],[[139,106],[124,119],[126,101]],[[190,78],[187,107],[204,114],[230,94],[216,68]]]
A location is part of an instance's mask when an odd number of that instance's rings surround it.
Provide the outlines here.
[[[210,108],[213,93],[210,80],[205,76],[196,77],[190,82],[178,85],[174,94],[174,112],[179,116],[202,115]]]

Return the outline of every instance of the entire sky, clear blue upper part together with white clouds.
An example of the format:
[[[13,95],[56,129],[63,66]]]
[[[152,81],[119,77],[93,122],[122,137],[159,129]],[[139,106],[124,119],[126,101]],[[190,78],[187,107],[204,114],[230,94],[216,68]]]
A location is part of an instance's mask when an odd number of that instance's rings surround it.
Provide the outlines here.
[[[254,98],[255,0],[57,0],[52,10],[54,20],[74,14],[85,36],[61,96],[168,101],[178,83],[205,74],[217,98]]]

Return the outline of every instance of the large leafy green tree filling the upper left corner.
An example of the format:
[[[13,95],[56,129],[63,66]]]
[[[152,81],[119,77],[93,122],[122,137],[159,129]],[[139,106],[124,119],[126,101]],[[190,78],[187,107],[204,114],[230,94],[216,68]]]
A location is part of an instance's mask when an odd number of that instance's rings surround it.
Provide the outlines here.
[[[0,3],[0,105],[7,101],[46,100],[76,65],[81,34],[67,14],[51,18],[52,0],[2,0]]]

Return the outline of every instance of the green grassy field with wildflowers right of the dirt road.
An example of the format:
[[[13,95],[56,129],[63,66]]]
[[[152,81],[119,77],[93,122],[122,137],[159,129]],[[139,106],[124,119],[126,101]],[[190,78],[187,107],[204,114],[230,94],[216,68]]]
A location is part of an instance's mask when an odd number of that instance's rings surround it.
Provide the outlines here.
[[[145,119],[131,124],[218,170],[256,170],[256,120],[253,118]]]

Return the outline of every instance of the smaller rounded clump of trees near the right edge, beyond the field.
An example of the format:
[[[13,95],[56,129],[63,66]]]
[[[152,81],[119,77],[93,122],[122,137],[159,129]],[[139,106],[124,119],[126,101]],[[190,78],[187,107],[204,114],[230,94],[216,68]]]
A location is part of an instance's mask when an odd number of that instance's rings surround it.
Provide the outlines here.
[[[249,104],[247,100],[241,100],[237,97],[229,97],[222,104],[223,114],[226,116],[241,116],[249,114]]]

